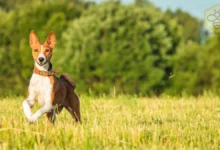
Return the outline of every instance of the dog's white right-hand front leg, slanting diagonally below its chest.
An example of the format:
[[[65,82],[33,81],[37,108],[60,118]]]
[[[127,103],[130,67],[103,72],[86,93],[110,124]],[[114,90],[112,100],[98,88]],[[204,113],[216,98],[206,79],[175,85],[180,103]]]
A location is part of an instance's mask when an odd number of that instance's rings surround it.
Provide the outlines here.
[[[41,109],[37,110],[28,120],[30,123],[35,122],[44,113],[50,112],[52,110],[51,104],[45,104]]]

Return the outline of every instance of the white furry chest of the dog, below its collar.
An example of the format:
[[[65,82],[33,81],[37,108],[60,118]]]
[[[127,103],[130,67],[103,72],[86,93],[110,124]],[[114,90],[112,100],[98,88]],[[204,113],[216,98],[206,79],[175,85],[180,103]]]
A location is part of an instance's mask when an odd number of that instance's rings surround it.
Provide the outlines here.
[[[53,85],[49,77],[33,74],[30,80],[29,91],[33,92],[38,103],[43,106],[51,101]]]

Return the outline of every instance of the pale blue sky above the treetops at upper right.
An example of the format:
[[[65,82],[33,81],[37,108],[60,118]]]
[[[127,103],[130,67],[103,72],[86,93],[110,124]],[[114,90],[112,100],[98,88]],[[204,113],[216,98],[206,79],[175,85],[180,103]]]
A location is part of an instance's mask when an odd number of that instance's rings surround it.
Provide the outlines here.
[[[95,0],[96,2],[101,2],[102,0]],[[120,0],[124,4],[131,4],[134,0]],[[176,10],[181,8],[182,10],[189,12],[191,15],[203,19],[204,12],[206,9],[212,7],[215,4],[220,4],[220,0],[149,0],[155,6],[166,10],[170,8],[171,10]]]

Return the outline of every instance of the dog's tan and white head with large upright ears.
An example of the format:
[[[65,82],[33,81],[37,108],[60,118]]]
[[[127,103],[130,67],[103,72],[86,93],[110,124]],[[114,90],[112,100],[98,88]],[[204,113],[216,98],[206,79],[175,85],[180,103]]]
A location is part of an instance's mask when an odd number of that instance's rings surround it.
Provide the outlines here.
[[[56,44],[56,36],[53,32],[50,32],[47,36],[47,39],[44,43],[38,41],[37,35],[32,30],[30,32],[30,46],[32,49],[32,56],[34,61],[38,65],[43,66],[52,57],[53,48]]]

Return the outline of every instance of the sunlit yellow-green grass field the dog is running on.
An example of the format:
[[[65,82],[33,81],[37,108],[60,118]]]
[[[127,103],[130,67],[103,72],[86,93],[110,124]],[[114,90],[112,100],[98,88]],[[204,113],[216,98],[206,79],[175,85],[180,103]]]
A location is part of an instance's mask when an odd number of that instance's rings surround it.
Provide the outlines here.
[[[82,124],[66,110],[54,126],[29,124],[24,98],[0,100],[0,149],[220,149],[220,99],[81,96]],[[36,109],[35,109],[36,110]]]

